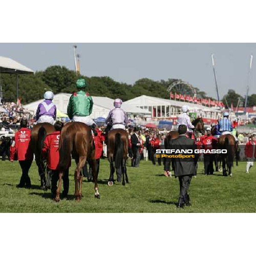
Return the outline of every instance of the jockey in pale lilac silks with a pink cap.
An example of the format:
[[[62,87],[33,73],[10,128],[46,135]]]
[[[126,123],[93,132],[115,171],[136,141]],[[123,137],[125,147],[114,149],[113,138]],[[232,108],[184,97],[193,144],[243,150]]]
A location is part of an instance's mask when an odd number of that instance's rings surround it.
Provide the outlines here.
[[[107,131],[109,130],[110,126],[111,130],[113,129],[124,129],[125,130],[125,124],[128,122],[128,116],[125,113],[125,111],[121,108],[122,105],[122,99],[115,99],[114,101],[114,107],[108,114],[108,117],[106,119]]]

